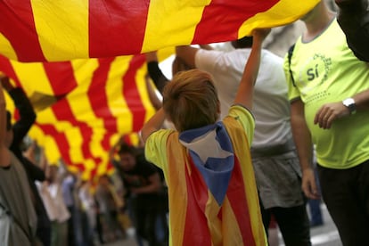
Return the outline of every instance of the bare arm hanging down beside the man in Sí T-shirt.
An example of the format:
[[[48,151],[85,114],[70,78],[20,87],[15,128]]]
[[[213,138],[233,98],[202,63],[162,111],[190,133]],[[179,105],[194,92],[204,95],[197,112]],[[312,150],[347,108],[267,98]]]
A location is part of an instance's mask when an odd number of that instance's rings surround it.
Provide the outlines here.
[[[299,154],[302,190],[308,198],[318,199],[319,193],[313,168],[313,143],[304,116],[304,103],[300,99],[291,102],[291,128]]]

